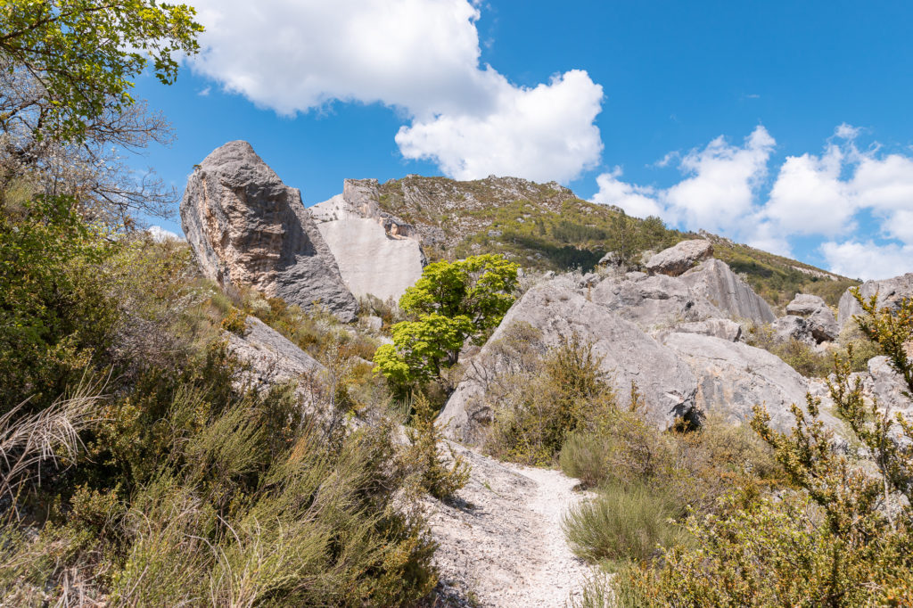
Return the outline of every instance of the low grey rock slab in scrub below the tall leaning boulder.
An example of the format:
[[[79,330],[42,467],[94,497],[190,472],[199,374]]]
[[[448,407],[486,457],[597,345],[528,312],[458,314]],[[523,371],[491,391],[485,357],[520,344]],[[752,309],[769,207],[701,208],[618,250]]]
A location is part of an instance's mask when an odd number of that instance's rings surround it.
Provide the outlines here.
[[[300,404],[314,410],[317,395],[312,389],[325,371],[320,362],[257,317],[247,317],[243,335],[226,331],[225,337],[228,351],[245,364],[240,383],[257,391],[294,383]]]

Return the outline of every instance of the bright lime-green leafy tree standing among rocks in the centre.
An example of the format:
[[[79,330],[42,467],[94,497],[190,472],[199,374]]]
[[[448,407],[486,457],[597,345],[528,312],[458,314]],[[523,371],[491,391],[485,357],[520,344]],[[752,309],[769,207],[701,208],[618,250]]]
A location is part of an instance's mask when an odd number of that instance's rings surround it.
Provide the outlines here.
[[[394,343],[377,350],[377,370],[401,393],[440,379],[467,340],[484,343],[498,327],[514,302],[517,271],[490,254],[429,264],[400,299],[411,319],[394,325]]]

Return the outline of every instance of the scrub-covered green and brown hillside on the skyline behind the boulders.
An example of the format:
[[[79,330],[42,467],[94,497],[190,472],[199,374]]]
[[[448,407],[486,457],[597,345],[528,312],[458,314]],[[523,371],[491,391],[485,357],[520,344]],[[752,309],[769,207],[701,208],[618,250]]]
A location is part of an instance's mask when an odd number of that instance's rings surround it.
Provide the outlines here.
[[[558,183],[513,177],[456,182],[410,175],[380,185],[380,204],[422,232],[432,259],[500,253],[522,267],[592,269],[607,253],[637,267],[645,251],[660,251],[688,238],[708,238],[715,257],[742,274],[771,305],[811,293],[836,306],[858,285],[788,257],[733,243],[721,236],[667,228],[657,217],[638,219],[614,206],[582,201]]]

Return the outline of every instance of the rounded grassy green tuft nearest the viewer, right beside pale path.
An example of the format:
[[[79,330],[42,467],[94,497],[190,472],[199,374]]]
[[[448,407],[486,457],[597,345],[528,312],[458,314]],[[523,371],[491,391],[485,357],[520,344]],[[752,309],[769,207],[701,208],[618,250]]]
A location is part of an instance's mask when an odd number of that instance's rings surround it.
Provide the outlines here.
[[[587,561],[645,561],[680,542],[671,522],[676,508],[656,489],[603,487],[597,498],[571,508],[561,525],[574,554]]]

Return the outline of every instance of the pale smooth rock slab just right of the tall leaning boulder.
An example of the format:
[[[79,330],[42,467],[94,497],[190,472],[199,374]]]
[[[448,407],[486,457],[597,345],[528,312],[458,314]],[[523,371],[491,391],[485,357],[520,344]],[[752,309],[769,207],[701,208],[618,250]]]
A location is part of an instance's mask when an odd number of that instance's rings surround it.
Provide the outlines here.
[[[398,300],[422,276],[425,255],[411,226],[378,208],[376,180],[346,180],[342,194],[309,208],[357,298]]]

